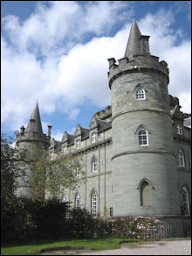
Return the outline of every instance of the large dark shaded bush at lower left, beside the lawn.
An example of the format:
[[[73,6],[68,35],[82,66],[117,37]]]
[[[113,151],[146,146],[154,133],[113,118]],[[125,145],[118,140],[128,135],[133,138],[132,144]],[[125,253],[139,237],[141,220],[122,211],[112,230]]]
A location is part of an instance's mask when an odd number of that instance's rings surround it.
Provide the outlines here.
[[[27,198],[2,199],[2,243],[62,237],[67,208],[67,203],[55,200],[41,203]]]

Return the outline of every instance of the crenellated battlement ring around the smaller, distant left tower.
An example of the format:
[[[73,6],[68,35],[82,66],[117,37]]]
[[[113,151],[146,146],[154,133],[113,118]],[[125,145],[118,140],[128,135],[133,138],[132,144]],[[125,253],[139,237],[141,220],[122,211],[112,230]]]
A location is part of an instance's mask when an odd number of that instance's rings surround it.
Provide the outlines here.
[[[20,132],[17,134],[17,143],[23,141],[39,141],[45,144],[50,144],[50,137],[46,136],[45,133],[38,132]]]

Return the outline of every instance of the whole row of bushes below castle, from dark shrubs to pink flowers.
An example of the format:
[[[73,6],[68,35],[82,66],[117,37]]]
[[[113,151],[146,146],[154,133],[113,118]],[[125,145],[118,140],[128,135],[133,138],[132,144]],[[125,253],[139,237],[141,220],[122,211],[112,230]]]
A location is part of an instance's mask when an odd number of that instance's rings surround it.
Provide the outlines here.
[[[157,238],[160,226],[154,217],[93,218],[86,210],[69,210],[68,203],[58,200],[13,198],[1,205],[3,244],[37,238]]]

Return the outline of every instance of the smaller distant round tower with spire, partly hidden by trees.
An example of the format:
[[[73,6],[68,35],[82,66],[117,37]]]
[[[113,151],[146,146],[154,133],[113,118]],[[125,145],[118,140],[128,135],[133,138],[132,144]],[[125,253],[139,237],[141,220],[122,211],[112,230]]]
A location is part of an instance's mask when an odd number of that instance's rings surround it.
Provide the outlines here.
[[[32,157],[43,153],[50,145],[51,139],[51,125],[48,126],[48,136],[43,133],[40,114],[38,110],[38,103],[36,103],[34,110],[32,111],[29,124],[25,130],[24,125],[20,128],[20,133],[17,134],[17,146],[22,149],[26,148]],[[18,196],[31,196],[31,188],[29,186],[29,180],[31,178],[32,171],[29,166],[24,165],[24,177],[20,181],[20,187],[17,189]]]

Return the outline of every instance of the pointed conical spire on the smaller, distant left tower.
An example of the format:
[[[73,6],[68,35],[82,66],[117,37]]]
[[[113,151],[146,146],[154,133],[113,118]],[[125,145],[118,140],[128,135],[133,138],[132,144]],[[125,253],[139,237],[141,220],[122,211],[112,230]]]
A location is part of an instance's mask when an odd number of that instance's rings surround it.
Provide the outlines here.
[[[26,132],[38,132],[43,133],[41,118],[38,110],[38,101],[35,105],[34,110],[32,111],[30,122],[27,126]]]

